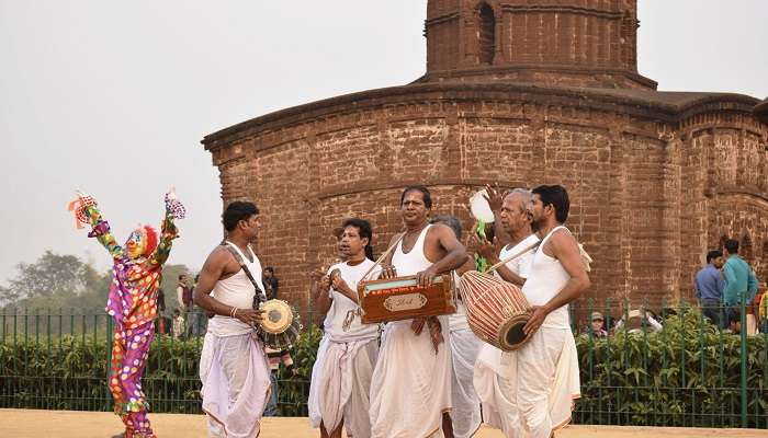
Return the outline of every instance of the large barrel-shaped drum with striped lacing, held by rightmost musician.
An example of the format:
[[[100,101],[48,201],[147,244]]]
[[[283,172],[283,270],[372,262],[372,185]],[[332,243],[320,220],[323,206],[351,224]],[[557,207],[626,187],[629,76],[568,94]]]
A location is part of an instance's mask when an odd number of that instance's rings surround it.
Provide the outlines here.
[[[532,333],[526,335],[522,331],[531,309],[517,286],[470,270],[461,277],[459,292],[466,306],[470,328],[484,342],[512,351],[531,338]]]

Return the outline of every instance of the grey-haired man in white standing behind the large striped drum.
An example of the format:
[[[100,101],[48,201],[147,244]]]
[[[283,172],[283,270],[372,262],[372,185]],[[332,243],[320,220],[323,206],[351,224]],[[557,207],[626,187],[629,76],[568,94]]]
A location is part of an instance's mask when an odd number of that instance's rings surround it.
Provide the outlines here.
[[[539,238],[531,231],[528,214],[528,205],[531,200],[530,191],[516,188],[504,198],[493,189],[488,189],[488,194],[490,196],[488,204],[492,208],[500,206],[499,215],[497,215],[499,226],[510,238],[509,244],[501,249],[488,242],[477,243],[478,254],[486,257],[489,264],[495,265],[500,260],[508,258],[530,247],[539,241]],[[507,262],[495,272],[495,275],[518,287],[522,286],[528,277],[534,251],[534,249],[530,250],[520,257]],[[509,381],[513,354],[501,351],[490,344],[483,343],[474,370],[474,387],[483,402],[483,422],[501,429],[506,436],[512,436],[513,430],[519,425],[517,394],[508,392],[509,389],[513,388]]]

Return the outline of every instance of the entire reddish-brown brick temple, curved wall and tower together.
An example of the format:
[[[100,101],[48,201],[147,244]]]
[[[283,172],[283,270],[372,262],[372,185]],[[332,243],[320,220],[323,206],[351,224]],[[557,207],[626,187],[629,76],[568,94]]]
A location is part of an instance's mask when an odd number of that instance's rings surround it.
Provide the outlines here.
[[[747,244],[765,280],[768,111],[745,95],[655,91],[636,73],[635,16],[634,1],[430,1],[417,82],[205,137],[224,204],[259,205],[260,256],[302,308],[307,273],[334,260],[332,229],[369,219],[382,252],[411,183],[465,227],[466,200],[486,182],[563,184],[567,226],[595,258],[589,298],[690,298],[724,235]],[[495,55],[482,65],[488,32]]]

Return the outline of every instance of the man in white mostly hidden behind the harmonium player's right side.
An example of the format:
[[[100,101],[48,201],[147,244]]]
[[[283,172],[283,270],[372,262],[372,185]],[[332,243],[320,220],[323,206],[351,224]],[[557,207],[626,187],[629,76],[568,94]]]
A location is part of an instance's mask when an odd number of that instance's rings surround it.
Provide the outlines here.
[[[430,223],[443,223],[453,230],[461,241],[461,221],[455,216],[437,216]],[[468,266],[466,266],[468,265]],[[467,254],[465,267],[474,269],[474,261]],[[455,277],[459,280],[459,276]],[[448,344],[451,346],[451,424],[455,438],[468,438],[481,426],[481,402],[473,387],[475,359],[483,342],[472,332],[466,322],[464,302],[456,301],[456,313],[448,315]]]

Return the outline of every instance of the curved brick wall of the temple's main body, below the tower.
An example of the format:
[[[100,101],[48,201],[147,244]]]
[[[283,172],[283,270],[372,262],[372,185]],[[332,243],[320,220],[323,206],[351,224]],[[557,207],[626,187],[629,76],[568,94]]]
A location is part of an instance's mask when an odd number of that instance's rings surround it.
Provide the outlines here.
[[[768,130],[744,111],[639,110],[636,102],[493,87],[329,101],[206,140],[224,204],[262,210],[258,250],[284,297],[307,306],[307,273],[335,257],[332,230],[374,224],[381,253],[402,227],[402,187],[430,186],[434,214],[472,224],[466,201],[486,182],[563,184],[567,226],[595,264],[587,298],[691,297],[702,254],[722,235],[748,237],[768,274]]]

